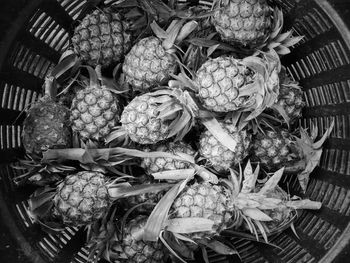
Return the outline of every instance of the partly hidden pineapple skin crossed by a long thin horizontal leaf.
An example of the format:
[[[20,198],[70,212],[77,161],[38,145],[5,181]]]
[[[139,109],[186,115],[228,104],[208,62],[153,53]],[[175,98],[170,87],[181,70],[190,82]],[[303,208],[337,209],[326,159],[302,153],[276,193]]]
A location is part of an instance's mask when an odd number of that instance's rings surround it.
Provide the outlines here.
[[[165,144],[156,145],[153,148],[147,148],[145,151],[157,151],[166,152],[172,154],[185,153],[188,155],[194,155],[193,148],[184,142],[169,142]],[[141,162],[141,166],[146,170],[148,174],[158,173],[162,171],[178,170],[190,168],[190,163],[180,160],[174,160],[171,158],[158,157],[158,158],[144,158]]]

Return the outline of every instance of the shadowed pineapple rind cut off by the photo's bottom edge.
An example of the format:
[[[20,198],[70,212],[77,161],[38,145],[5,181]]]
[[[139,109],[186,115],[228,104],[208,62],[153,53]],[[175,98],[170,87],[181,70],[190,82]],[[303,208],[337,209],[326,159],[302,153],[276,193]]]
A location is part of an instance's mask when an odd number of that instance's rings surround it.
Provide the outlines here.
[[[111,262],[120,263],[165,263],[166,255],[160,242],[138,240],[138,234],[145,227],[146,216],[137,216],[124,229],[123,242],[112,240],[110,246]],[[119,252],[122,250],[122,256]]]

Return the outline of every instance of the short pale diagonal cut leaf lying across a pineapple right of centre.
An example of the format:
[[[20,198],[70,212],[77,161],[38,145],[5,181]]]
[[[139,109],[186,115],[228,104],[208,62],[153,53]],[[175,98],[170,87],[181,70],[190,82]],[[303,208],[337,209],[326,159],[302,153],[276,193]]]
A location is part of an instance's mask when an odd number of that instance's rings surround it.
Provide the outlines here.
[[[202,124],[222,145],[236,152],[237,142],[221,127],[216,118],[203,119]]]

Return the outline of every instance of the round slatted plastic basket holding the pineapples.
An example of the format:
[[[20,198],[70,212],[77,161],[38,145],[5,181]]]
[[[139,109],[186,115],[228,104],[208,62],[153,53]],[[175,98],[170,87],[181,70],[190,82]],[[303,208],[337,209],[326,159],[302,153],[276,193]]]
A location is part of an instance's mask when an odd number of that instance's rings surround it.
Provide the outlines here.
[[[181,1],[181,0],[180,0]],[[84,263],[84,229],[67,227],[58,235],[41,231],[28,215],[30,186],[16,187],[20,171],[11,163],[23,155],[21,112],[37,100],[43,78],[68,43],[68,31],[85,0],[7,1],[0,10],[0,259],[1,262]],[[181,1],[184,2],[184,1]],[[193,1],[192,1],[193,2]],[[197,1],[198,2],[198,1]],[[350,19],[346,0],[280,0],[286,27],[305,38],[282,59],[305,90],[300,121],[317,125],[319,135],[332,119],[335,128],[305,194],[321,201],[319,211],[304,211],[291,230],[274,235],[280,246],[232,239],[242,262],[345,262],[350,251]],[[199,1],[210,5],[210,1]],[[282,182],[301,195],[296,178]],[[234,262],[209,252],[210,262]],[[237,259],[236,259],[237,260]],[[202,262],[198,259],[197,262]],[[235,261],[237,262],[237,261]]]

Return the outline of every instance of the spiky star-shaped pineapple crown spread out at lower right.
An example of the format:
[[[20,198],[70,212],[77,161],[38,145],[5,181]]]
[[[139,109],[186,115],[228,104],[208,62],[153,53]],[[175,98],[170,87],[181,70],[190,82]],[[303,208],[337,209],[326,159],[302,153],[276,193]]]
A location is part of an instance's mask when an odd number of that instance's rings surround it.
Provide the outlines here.
[[[292,211],[297,209],[320,209],[322,205],[320,202],[310,201],[308,199],[299,200],[298,197],[285,199],[280,195],[269,195],[278,189],[278,183],[282,178],[284,168],[275,172],[260,187],[257,185],[259,172],[260,166],[258,165],[256,169],[253,170],[251,162],[248,160],[243,171],[240,167],[238,176],[235,171],[231,170],[230,181],[224,180],[232,191],[233,209],[239,210],[250,232],[256,236],[257,240],[259,240],[258,229],[265,241],[268,242],[268,228],[265,222],[273,221],[264,210],[291,209]],[[286,223],[291,224],[291,221],[287,221]],[[284,225],[280,226],[280,228],[284,227]],[[273,232],[276,231],[278,232],[279,230],[274,229]]]

